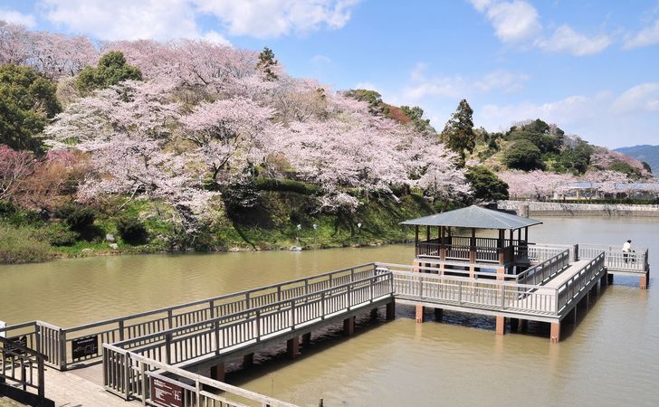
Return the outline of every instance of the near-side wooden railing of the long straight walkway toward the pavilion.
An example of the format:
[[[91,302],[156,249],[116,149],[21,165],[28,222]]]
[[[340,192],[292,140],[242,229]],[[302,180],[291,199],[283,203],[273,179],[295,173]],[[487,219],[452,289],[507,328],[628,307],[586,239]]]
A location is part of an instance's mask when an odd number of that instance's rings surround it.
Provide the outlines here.
[[[374,277],[113,345],[167,364],[224,355],[242,345],[270,340],[328,316],[393,297],[391,274],[373,271]]]

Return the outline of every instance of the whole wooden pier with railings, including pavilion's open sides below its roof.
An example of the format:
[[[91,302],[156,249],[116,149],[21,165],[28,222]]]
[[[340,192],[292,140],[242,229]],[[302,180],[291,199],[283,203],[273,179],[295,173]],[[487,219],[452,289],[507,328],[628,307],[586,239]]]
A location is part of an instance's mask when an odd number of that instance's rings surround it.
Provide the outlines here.
[[[528,227],[524,224],[513,227]],[[396,303],[415,307],[419,323],[425,308],[438,316],[448,309],[495,317],[497,335],[505,333],[507,321],[511,327],[548,323],[550,342],[556,343],[561,323],[575,317],[578,304],[613,274],[638,276],[641,289],[649,282],[643,248],[625,255],[611,246],[534,244],[528,231],[517,240],[512,232],[504,239],[501,230],[492,240],[476,238],[473,230],[468,241],[439,234],[439,242],[417,239],[411,265],[368,263],[79,327],[31,321],[0,328],[8,336],[0,350],[14,357],[9,364],[3,358],[0,379],[33,386],[34,393],[45,388],[46,397],[57,397],[69,381],[143,405],[162,405],[155,398],[167,388],[180,398],[172,405],[185,407],[291,406],[224,383],[224,365],[236,359],[252,364],[255,353],[276,343],[285,343],[294,359],[314,331],[339,325],[350,336],[356,316],[386,308],[387,319],[393,319]],[[22,357],[12,347],[16,341],[24,347]],[[30,369],[17,369],[21,363]],[[56,373],[90,364],[101,364],[87,372],[96,372],[99,385],[81,386],[84,379],[75,376],[73,383],[74,376]],[[45,380],[44,365],[50,368]],[[23,373],[28,371],[29,378]],[[48,380],[57,384],[51,390]],[[99,397],[98,405],[111,404]]]

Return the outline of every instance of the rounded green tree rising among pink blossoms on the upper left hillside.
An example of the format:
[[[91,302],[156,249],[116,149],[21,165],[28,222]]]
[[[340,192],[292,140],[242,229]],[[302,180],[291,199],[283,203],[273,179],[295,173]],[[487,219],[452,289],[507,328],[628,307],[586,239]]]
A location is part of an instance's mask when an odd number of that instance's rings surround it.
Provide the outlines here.
[[[100,57],[96,68],[88,66],[80,72],[76,86],[82,93],[89,93],[110,88],[122,80],[142,80],[142,72],[129,65],[122,52],[110,51]]]

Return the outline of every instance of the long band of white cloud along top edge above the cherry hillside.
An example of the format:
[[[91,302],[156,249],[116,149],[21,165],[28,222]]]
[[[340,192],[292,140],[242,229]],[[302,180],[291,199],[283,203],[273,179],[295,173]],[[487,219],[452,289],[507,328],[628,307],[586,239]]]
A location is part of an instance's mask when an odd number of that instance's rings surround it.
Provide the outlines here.
[[[197,19],[211,15],[228,33],[258,38],[348,23],[358,0],[38,0],[44,17],[100,40],[205,38],[228,43]]]

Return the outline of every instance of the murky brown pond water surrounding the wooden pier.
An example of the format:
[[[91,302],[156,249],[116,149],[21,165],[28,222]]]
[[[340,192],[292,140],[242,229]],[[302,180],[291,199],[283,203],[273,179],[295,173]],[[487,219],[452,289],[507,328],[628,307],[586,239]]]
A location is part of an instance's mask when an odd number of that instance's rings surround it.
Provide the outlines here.
[[[545,218],[532,241],[620,244],[659,252],[659,219]],[[71,327],[106,317],[212,297],[369,261],[409,263],[411,246],[304,252],[143,255],[0,266],[0,319],[35,318]],[[654,254],[656,255],[656,254]],[[650,258],[652,262],[652,256]],[[658,405],[659,285],[616,283],[549,344],[547,327],[495,336],[493,320],[445,313],[444,323],[358,318],[357,335],[339,327],[314,334],[301,357],[283,348],[229,383],[302,405]],[[38,294],[37,294],[38,293]]]

